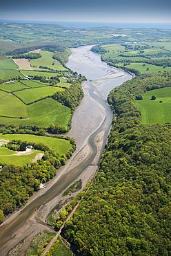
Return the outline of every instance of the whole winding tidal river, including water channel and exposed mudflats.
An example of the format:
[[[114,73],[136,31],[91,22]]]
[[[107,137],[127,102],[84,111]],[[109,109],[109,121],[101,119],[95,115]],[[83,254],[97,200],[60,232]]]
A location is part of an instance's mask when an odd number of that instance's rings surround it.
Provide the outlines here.
[[[77,141],[77,150],[57,176],[34,193],[28,203],[11,214],[0,226],[1,256],[23,239],[23,248],[17,255],[24,255],[26,247],[38,232],[51,230],[44,223],[47,214],[61,200],[63,191],[78,179],[82,184],[94,176],[97,163],[107,141],[112,122],[112,111],[105,102],[108,93],[131,75],[101,62],[100,55],[90,52],[91,46],[72,49],[66,66],[85,75],[84,98],[74,112],[72,129],[67,134]]]

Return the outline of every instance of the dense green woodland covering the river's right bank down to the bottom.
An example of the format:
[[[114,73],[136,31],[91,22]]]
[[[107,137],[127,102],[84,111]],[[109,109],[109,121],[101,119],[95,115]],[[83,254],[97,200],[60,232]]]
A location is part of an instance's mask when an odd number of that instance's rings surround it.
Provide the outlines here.
[[[170,73],[112,90],[113,120],[96,179],[66,223],[79,255],[171,255],[171,125],[142,125],[135,95],[170,86]]]

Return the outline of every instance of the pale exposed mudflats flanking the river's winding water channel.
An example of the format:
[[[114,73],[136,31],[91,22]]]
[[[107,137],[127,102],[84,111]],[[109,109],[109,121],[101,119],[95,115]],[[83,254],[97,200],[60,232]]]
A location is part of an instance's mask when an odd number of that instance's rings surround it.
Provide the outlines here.
[[[5,234],[6,230],[9,230],[12,221],[15,221],[15,219],[19,217],[19,214],[24,208],[27,208],[27,206],[30,205],[30,203],[32,203],[35,199],[38,199],[39,196],[46,193],[47,190],[50,190],[50,188],[52,188],[52,185],[54,185],[54,183],[57,183],[60,178],[62,178],[63,176],[67,176],[67,174],[70,174],[72,170],[79,167],[81,163],[90,158],[92,154],[92,147],[90,147],[88,140],[90,136],[92,136],[92,134],[94,134],[94,132],[97,131],[99,127],[101,127],[106,117],[108,117],[109,113],[108,111],[106,111],[105,107],[103,107],[103,104],[100,104],[97,100],[95,100],[95,98],[92,97],[92,95],[90,95],[90,89],[92,88],[92,86],[95,86],[95,90],[92,94],[94,94],[94,96],[97,95],[98,98],[102,98],[104,101],[106,100],[109,91],[114,86],[118,85],[118,82],[114,84],[114,79],[117,79],[118,77],[118,80],[121,84],[123,80],[128,80],[131,78],[128,78],[128,75],[126,76],[123,71],[115,70],[104,62],[101,63],[99,55],[90,53],[90,51],[88,51],[89,48],[90,46],[84,46],[81,48],[72,49],[72,55],[70,56],[69,61],[70,63],[68,63],[69,68],[77,71],[78,73],[86,75],[89,80],[93,80],[83,82],[83,91],[85,96],[81,101],[79,107],[77,107],[76,111],[74,112],[74,116],[72,118],[72,129],[67,134],[70,137],[76,138],[77,149],[72,155],[72,158],[67,161],[66,165],[64,167],[61,167],[57,171],[57,175],[54,177],[54,179],[46,183],[46,189],[41,188],[41,190],[35,192],[30,197],[26,205],[11,214],[10,217],[8,217],[1,224],[1,256],[6,256],[8,254],[8,251],[13,248],[14,245],[19,243],[19,241],[21,241],[21,239],[23,239],[24,237],[30,235],[28,239],[26,239],[23,243],[20,254],[22,255],[24,250],[26,250],[29,241],[31,241],[31,238],[33,238],[36,233],[41,232],[42,230],[52,230],[44,223],[44,221],[46,220],[46,217],[50,210],[52,210],[52,208],[54,208],[54,206],[63,199],[63,191],[55,196],[54,199],[50,200],[48,203],[43,204],[38,210],[35,210],[33,213],[30,212],[30,216],[28,217],[27,221],[25,221],[25,223],[23,223],[19,228],[15,227],[13,232],[11,231],[8,237],[6,235],[3,235]],[[109,122],[111,122],[111,120]],[[75,181],[81,179],[83,184],[82,190],[86,186],[88,181],[93,179],[97,171],[97,163],[99,162],[99,157],[101,155],[101,151],[107,138],[105,130],[103,129],[104,128],[99,130],[93,139],[94,144],[97,147],[97,152],[94,156],[94,159],[92,160],[90,165],[88,165],[88,167],[86,167],[85,170],[81,172],[77,179],[72,182],[74,183]],[[70,183],[70,185],[72,185],[72,183]],[[76,194],[77,193],[74,193],[70,196],[73,197]],[[68,196],[66,196],[66,198],[68,198]]]

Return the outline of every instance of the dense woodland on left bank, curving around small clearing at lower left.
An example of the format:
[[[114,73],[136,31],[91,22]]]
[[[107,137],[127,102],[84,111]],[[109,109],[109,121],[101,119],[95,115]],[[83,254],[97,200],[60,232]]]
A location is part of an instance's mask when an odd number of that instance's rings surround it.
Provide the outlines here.
[[[69,140],[70,138],[66,138]],[[27,145],[44,152],[43,158],[35,163],[23,166],[0,163],[0,202],[3,214],[9,214],[17,207],[23,205],[34,191],[39,190],[41,182],[52,179],[61,165],[66,164],[66,159],[72,156],[75,149],[73,139],[70,139],[72,148],[59,156],[57,152],[43,143],[34,143],[22,140],[11,140],[7,147],[13,150],[25,150]],[[0,220],[1,221],[1,220]]]

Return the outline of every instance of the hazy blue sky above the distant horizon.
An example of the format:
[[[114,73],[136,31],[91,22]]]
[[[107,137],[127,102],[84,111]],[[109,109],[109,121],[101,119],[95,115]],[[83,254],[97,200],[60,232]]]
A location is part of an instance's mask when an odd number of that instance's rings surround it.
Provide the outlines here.
[[[5,0],[0,19],[171,23],[170,0]]]

